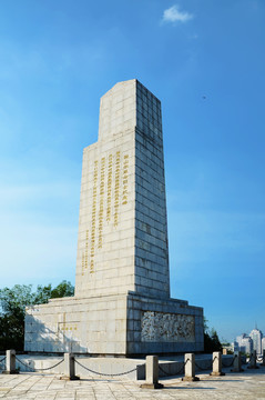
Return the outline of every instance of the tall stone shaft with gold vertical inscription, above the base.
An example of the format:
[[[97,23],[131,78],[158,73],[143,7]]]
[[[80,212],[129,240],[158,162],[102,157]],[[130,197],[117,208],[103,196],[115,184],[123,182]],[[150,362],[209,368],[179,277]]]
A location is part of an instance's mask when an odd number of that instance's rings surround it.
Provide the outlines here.
[[[139,81],[101,99],[84,149],[75,296],[170,297],[161,102]]]

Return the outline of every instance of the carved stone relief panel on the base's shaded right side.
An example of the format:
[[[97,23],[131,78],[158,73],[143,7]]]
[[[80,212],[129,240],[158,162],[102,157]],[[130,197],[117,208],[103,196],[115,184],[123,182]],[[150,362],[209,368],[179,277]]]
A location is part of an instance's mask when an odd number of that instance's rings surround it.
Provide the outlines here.
[[[142,342],[194,342],[193,316],[145,311],[141,320]]]

